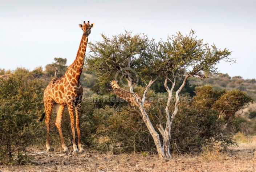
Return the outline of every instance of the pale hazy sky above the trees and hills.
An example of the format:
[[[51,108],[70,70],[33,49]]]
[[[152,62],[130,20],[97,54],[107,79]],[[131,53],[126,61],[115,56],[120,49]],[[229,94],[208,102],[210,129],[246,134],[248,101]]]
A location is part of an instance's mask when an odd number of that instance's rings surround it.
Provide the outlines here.
[[[82,37],[78,24],[95,24],[89,41],[132,30],[155,40],[196,31],[232,51],[221,73],[256,78],[256,0],[0,0],[0,68],[45,67],[54,57],[71,64]]]

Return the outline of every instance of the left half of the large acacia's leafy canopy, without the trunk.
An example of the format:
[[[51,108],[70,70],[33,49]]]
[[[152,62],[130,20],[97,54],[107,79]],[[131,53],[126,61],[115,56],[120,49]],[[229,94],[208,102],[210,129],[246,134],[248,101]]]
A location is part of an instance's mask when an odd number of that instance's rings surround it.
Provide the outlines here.
[[[154,59],[150,51],[150,41],[147,36],[125,31],[124,34],[111,38],[101,35],[103,41],[89,44],[91,50],[86,58],[88,69],[93,71],[100,84],[109,83],[114,78],[129,77],[143,81],[154,77]],[[136,69],[136,71],[134,70]]]

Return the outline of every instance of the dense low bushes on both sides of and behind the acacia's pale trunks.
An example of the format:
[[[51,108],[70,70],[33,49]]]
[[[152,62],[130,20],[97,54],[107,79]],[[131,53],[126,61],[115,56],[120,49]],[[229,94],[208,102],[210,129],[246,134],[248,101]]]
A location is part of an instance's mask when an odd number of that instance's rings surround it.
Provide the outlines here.
[[[138,90],[139,93],[139,90]],[[158,118],[164,121],[165,94],[158,93],[151,107],[146,109],[149,118],[157,130]],[[155,144],[140,112],[126,102],[103,101],[115,94],[97,95],[85,98],[82,104],[81,134],[87,146],[112,153],[150,152],[156,153]],[[179,113],[172,126],[171,152],[195,153],[203,148],[227,148],[235,144],[232,136],[227,136],[222,123],[218,121],[218,111],[207,108],[196,109],[191,97],[180,97]],[[156,106],[157,104],[157,106]],[[159,110],[162,116],[159,116]],[[171,111],[171,109],[170,109]],[[162,138],[160,138],[162,140]]]

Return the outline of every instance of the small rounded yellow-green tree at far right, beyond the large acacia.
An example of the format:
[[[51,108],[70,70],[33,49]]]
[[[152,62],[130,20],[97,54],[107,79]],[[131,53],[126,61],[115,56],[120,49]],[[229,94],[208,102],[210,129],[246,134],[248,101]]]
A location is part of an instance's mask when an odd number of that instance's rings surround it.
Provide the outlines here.
[[[218,110],[218,118],[223,118],[225,123],[223,128],[226,128],[229,123],[243,113],[244,108],[253,102],[253,98],[245,91],[214,90],[213,86],[210,85],[197,87],[195,93],[194,106]],[[236,112],[239,110],[241,113],[237,114]]]

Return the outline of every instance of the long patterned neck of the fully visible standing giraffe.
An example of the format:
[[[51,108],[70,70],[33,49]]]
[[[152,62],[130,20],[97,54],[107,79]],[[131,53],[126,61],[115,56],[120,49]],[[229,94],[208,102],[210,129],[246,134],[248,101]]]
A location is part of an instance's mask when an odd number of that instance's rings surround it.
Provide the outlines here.
[[[80,75],[81,75],[83,67],[84,67],[84,58],[85,58],[87,41],[88,41],[88,36],[86,36],[86,37],[82,36],[82,39],[81,39],[81,42],[80,42],[80,45],[79,45],[79,48],[77,51],[76,59],[68,67],[68,70],[65,73],[65,75],[70,74],[72,76],[72,79],[75,79],[77,82],[80,79]]]

